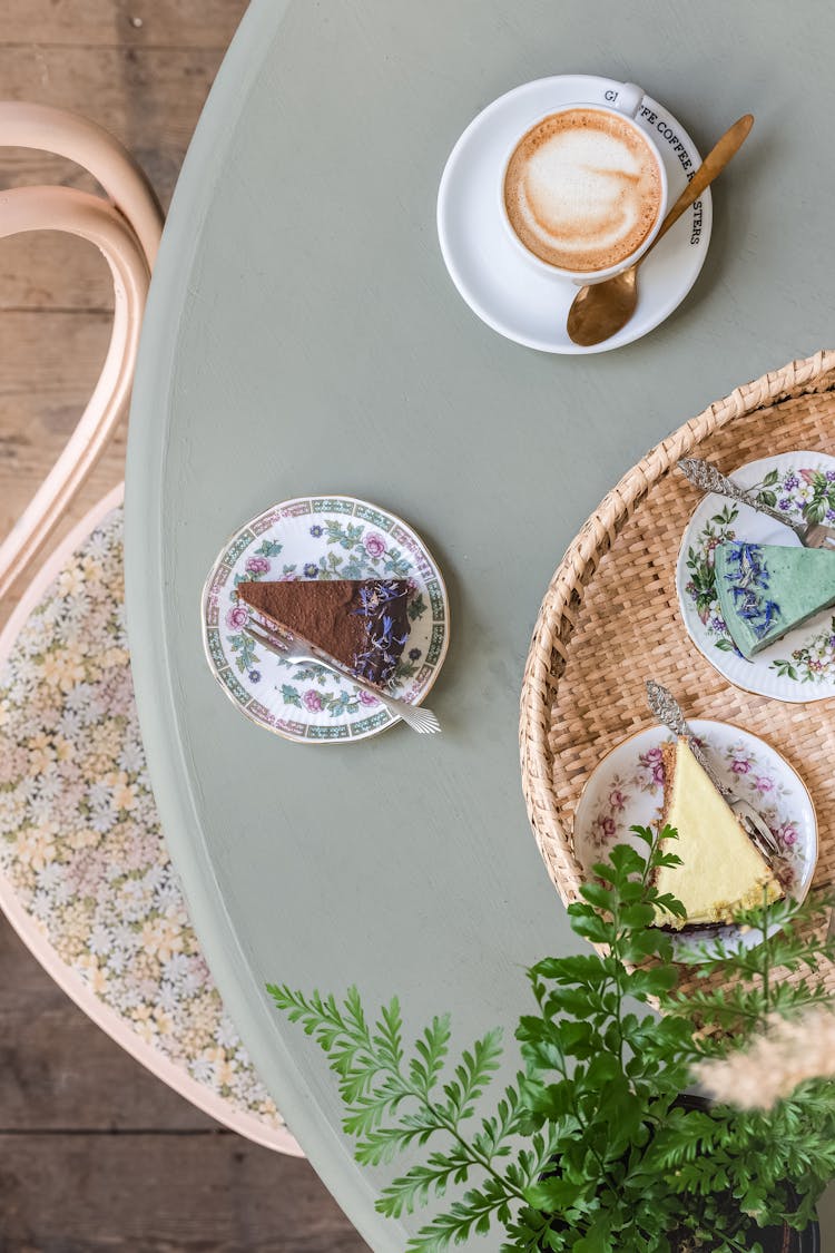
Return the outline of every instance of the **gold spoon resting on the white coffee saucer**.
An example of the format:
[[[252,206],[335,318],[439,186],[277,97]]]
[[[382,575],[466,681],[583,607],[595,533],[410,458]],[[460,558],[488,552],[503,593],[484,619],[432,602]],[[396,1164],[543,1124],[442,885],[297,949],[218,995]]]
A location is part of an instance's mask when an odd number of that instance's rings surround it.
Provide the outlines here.
[[[621,271],[612,278],[602,283],[591,283],[581,287],[575,296],[573,304],[568,309],[568,335],[575,343],[590,348],[592,343],[602,343],[611,338],[635,313],[637,304],[637,269],[642,261],[650,256],[658,239],[661,239],[670,227],[679,221],[685,209],[699,199],[701,193],[709,187],[717,174],[720,174],[734,153],[742,147],[745,137],[754,125],[754,115],[746,113],[745,117],[735,122],[730,130],[726,130],[715,148],[705,157],[704,162],[694,174],[690,183],[672,205],[661,224],[657,236],[633,266]]]

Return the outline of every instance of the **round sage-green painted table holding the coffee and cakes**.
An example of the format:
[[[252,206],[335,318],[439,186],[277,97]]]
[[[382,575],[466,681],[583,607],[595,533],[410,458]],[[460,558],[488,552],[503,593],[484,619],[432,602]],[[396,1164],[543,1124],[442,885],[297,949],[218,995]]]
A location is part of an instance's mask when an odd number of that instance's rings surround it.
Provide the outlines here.
[[[777,0],[255,0],[177,188],[128,459],[139,710],[164,829],[223,997],[310,1162],[374,1248],[319,1050],[268,980],[397,992],[454,1042],[527,1005],[572,944],[520,787],[518,693],[547,580],[600,497],[736,383],[835,338],[835,10]],[[438,180],[458,134],[530,79],[640,83],[702,150],[756,127],[715,193],[706,264],[652,335],[588,357],[482,325],[444,269]],[[247,722],[203,657],[215,554],[274,501],[344,492],[406,517],[449,588],[432,693],[444,734],[293,744]],[[602,749],[607,746],[601,746]],[[515,1065],[508,1041],[508,1070]],[[498,1239],[479,1240],[496,1248]]]

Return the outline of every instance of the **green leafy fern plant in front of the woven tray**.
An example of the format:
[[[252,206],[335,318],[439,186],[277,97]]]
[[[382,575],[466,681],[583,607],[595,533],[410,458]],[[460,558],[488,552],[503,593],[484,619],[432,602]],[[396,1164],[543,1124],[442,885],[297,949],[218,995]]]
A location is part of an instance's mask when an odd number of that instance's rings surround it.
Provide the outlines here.
[[[744,1048],[774,1014],[825,1002],[815,971],[832,951],[807,935],[825,902],[785,900],[741,916],[767,938],[751,950],[696,949],[687,960],[704,987],[685,994],[672,940],[652,926],[657,907],[684,916],[653,887],[657,867],[679,865],[662,851],[675,832],[632,829],[646,856],[613,848],[568,907],[572,930],[601,952],[528,971],[536,1011],[520,1020],[520,1069],[492,1113],[482,1098],[501,1030],[451,1064],[449,1015],[407,1048],[397,999],[369,1019],[353,987],[338,1004],[268,985],[328,1055],[357,1160],[413,1159],[377,1200],[389,1218],[434,1208],[409,1253],[443,1253],[494,1228],[513,1253],[740,1253],[759,1248],[757,1224],[802,1228],[835,1174],[829,1080],[805,1083],[767,1114],[681,1103],[700,1060]],[[789,984],[779,969],[801,974]]]

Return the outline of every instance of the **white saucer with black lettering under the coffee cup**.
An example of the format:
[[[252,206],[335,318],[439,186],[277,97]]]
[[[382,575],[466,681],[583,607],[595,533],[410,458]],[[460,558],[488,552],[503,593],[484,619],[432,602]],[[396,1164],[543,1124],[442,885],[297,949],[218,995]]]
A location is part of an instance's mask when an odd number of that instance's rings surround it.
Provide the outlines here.
[[[681,303],[707,253],[710,190],[684,214],[641,266],[635,316],[611,340],[582,348],[568,338],[566,317],[577,288],[558,274],[538,273],[513,247],[499,211],[501,165],[513,140],[563,104],[606,104],[615,79],[560,74],[525,83],[493,100],[469,123],[447,160],[438,189],[438,238],[449,276],[473,313],[499,335],[542,352],[608,352],[652,331]],[[701,163],[696,145],[672,114],[648,95],[636,120],[663,154],[672,203],[686,185],[682,155]],[[680,145],[682,152],[676,152]],[[699,205],[699,207],[697,207]]]

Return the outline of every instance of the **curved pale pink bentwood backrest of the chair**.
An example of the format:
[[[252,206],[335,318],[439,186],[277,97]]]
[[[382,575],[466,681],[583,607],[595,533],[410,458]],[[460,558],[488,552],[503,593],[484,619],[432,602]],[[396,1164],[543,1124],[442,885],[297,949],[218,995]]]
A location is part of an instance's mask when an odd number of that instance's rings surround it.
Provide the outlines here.
[[[99,381],[64,451],[0,544],[0,598],[40,553],[104,451],[130,393],[163,214],[130,154],[101,127],[61,109],[0,101],[4,147],[38,148],[88,169],[108,198],[66,187],[0,193],[0,238],[68,231],[94,243],[113,277],[114,320]]]

